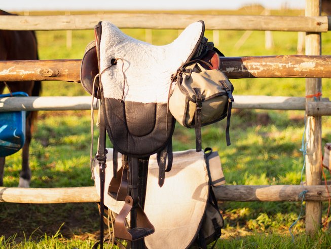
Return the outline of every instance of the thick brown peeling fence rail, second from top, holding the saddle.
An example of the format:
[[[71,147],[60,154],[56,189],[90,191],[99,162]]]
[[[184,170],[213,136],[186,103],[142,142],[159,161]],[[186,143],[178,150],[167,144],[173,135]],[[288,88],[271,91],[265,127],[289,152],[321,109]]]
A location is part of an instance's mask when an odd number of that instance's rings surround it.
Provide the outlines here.
[[[331,78],[331,56],[276,55],[220,57],[230,79]],[[63,80],[80,82],[80,59],[0,61],[0,81]]]

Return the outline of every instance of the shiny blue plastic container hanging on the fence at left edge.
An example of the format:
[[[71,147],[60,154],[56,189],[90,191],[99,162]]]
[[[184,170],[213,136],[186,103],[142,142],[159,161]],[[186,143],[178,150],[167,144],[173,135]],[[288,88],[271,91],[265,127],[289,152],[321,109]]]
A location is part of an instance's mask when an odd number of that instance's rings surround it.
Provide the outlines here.
[[[23,91],[13,92],[13,97],[28,97]],[[0,98],[11,97],[10,94]],[[25,143],[25,111],[0,112],[0,157],[14,154]]]

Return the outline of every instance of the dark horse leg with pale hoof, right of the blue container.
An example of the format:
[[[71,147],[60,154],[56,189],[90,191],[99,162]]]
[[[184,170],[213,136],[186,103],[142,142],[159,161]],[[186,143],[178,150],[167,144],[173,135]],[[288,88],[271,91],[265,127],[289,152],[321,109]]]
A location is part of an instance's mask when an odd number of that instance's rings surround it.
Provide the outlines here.
[[[26,118],[25,143],[22,148],[22,171],[18,186],[20,188],[29,188],[31,180],[31,170],[29,167],[29,146],[32,138],[31,134],[31,113]]]

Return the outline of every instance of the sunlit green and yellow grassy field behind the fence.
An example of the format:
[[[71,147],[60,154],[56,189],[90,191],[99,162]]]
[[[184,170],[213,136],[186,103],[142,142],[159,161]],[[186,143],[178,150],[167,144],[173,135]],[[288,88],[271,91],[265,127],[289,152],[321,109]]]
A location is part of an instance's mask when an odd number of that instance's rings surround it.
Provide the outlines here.
[[[279,13],[273,13],[279,14]],[[293,14],[292,12],[289,14]],[[295,14],[302,14],[296,12]],[[125,29],[139,40],[143,29]],[[274,47],[265,49],[264,32],[252,32],[236,47],[244,31],[219,31],[219,50],[226,56],[296,54],[298,34],[273,32]],[[72,47],[66,47],[65,31],[39,31],[41,59],[82,58],[85,46],[94,39],[92,30],[72,32]],[[153,44],[162,45],[178,36],[177,30],[153,30]],[[213,41],[211,31],[206,32]],[[322,34],[322,54],[331,54],[331,35]],[[232,80],[235,95],[305,96],[305,79]],[[331,81],[323,79],[323,97],[331,94]],[[43,82],[43,96],[87,95],[80,84]],[[258,98],[258,97],[257,97]],[[323,117],[322,145],[331,141],[330,118]],[[304,112],[234,110],[231,122],[232,145],[225,143],[225,122],[203,128],[203,147],[220,154],[228,184],[300,184],[303,167],[302,136]],[[91,186],[89,168],[90,112],[57,111],[39,113],[38,128],[31,144],[32,188]],[[95,141],[97,133],[94,134]],[[194,131],[176,126],[174,150],[195,147]],[[109,145],[109,144],[108,144]],[[18,152],[7,158],[4,184],[17,186],[20,170]],[[327,178],[330,175],[325,171]],[[329,231],[316,237],[304,235],[304,216],[298,219],[301,203],[224,202],[220,209],[225,228],[217,248],[329,248]],[[323,203],[325,221],[327,203]],[[98,237],[95,203],[30,205],[1,203],[1,248],[91,248]]]

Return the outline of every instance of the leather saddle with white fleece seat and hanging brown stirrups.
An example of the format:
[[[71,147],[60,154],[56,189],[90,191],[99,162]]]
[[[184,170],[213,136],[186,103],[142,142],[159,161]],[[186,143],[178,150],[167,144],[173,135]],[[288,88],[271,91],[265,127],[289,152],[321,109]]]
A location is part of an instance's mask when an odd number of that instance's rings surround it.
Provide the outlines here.
[[[114,176],[108,186],[110,196],[125,201],[115,222],[116,237],[136,240],[154,232],[142,211],[147,176],[137,177],[142,174],[140,171],[147,174],[149,157],[155,153],[160,186],[165,171],[171,169],[175,119],[167,103],[172,76],[182,64],[201,53],[206,42],[204,30],[203,21],[194,22],[172,43],[155,46],[129,37],[111,22],[102,21],[95,27],[95,41],[86,48],[81,67],[82,86],[101,99],[101,113],[113,143],[113,155],[122,154],[119,171],[118,160],[113,158]],[[127,231],[125,216],[133,207],[138,207],[134,224],[138,227]],[[143,229],[139,229],[139,223]]]

